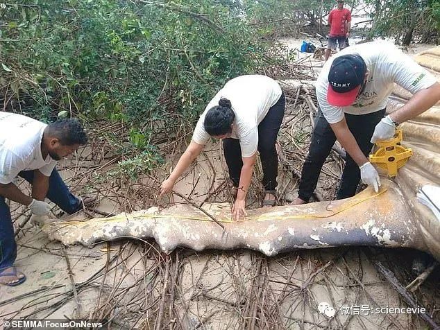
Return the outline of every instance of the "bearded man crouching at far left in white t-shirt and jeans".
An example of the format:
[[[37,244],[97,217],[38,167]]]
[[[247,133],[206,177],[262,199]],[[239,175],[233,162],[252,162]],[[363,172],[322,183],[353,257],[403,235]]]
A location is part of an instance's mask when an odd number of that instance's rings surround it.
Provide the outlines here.
[[[0,284],[16,286],[26,280],[13,266],[17,245],[5,199],[26,205],[41,216],[51,211],[44,202],[46,197],[68,214],[82,209],[87,202],[69,192],[55,166],[86,143],[87,136],[75,119],[46,125],[21,114],[0,112]],[[17,176],[31,182],[31,196],[14,184]]]

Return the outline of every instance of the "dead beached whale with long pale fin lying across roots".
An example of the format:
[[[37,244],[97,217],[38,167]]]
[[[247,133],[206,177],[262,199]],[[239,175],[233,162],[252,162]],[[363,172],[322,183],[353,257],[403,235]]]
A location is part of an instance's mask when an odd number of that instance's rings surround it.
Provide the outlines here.
[[[440,76],[440,46],[416,56]],[[410,94],[397,88],[389,110]],[[416,198],[418,189],[440,184],[440,105],[403,123],[403,145],[413,156],[394,180],[382,179],[382,189],[368,188],[353,198],[248,210],[245,221],[230,221],[228,203],[203,205],[223,225],[191,205],[76,221],[48,221],[43,230],[66,245],[116,238],[154,238],[165,252],[178,246],[194,250],[248,248],[268,256],[295,249],[340,245],[415,248],[440,260],[440,220]]]

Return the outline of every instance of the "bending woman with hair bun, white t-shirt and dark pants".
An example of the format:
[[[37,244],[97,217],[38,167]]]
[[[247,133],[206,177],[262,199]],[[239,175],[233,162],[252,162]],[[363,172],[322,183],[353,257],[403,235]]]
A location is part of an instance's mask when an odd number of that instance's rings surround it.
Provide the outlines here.
[[[284,111],[285,96],[275,80],[249,75],[228,81],[198,119],[191,143],[174,171],[162,182],[160,196],[173,189],[178,177],[201,153],[208,139],[214,137],[223,140],[226,164],[234,186],[232,218],[239,220],[246,216],[246,194],[251,184],[257,150],[263,169],[263,206],[275,205],[275,189],[278,185],[275,144]]]

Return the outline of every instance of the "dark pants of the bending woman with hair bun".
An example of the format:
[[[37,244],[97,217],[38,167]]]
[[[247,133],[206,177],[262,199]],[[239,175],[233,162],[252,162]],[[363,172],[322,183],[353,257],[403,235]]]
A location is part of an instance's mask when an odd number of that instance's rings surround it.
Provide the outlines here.
[[[273,190],[278,183],[278,155],[276,153],[276,137],[280,130],[284,116],[286,99],[284,93],[280,99],[267,112],[263,121],[258,125],[258,151],[263,168],[263,186],[265,190]],[[229,168],[229,177],[234,186],[240,182],[243,160],[242,150],[238,139],[223,139],[223,150],[226,164]]]

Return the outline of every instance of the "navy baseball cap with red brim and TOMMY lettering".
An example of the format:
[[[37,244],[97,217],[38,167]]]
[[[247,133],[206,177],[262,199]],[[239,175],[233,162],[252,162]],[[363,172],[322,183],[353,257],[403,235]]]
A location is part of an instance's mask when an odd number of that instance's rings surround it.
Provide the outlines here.
[[[328,72],[327,101],[331,105],[346,107],[355,102],[362,87],[366,64],[358,54],[335,58]]]

